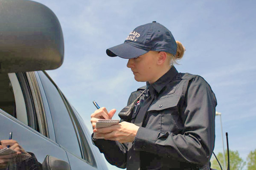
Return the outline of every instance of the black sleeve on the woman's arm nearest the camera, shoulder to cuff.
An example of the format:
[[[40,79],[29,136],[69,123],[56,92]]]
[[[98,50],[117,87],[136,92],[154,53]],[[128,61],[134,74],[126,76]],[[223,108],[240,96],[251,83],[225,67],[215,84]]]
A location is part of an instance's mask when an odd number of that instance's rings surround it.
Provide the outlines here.
[[[183,132],[162,133],[140,127],[134,140],[134,150],[192,164],[209,162],[215,142],[215,95],[208,83],[199,76],[189,80],[183,103]]]

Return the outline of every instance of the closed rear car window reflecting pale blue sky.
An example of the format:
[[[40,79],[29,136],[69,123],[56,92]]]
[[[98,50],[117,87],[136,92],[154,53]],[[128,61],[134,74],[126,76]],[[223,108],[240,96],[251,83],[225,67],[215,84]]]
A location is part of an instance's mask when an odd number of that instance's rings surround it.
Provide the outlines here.
[[[40,71],[38,75],[52,115],[56,142],[76,156],[82,157],[76,131],[71,121],[72,118],[61,92],[45,72]]]

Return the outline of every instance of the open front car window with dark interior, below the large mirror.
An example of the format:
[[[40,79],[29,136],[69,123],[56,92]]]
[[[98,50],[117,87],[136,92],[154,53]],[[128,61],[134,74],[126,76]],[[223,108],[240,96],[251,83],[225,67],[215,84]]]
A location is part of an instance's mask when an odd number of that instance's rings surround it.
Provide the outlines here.
[[[29,89],[25,73],[0,74],[0,108],[23,124],[42,133],[42,130],[39,130]]]

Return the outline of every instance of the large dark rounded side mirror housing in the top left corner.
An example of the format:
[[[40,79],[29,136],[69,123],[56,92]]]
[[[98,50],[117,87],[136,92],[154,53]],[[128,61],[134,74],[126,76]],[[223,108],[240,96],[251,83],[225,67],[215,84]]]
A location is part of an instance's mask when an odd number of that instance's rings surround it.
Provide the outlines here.
[[[61,66],[63,34],[49,8],[29,0],[0,0],[0,16],[0,73]]]

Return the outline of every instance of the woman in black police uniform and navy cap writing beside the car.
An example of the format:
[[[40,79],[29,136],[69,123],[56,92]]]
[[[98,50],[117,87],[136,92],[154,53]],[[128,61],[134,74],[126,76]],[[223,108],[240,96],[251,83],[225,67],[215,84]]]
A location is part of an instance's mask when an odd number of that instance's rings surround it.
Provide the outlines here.
[[[134,79],[146,86],[133,92],[128,105],[141,93],[130,120],[95,128],[115,109],[100,108],[91,115],[93,143],[109,163],[128,170],[209,170],[215,142],[215,94],[200,76],[178,73],[173,63],[184,47],[159,23],[138,26],[123,44],[107,49],[110,57],[128,59]]]

